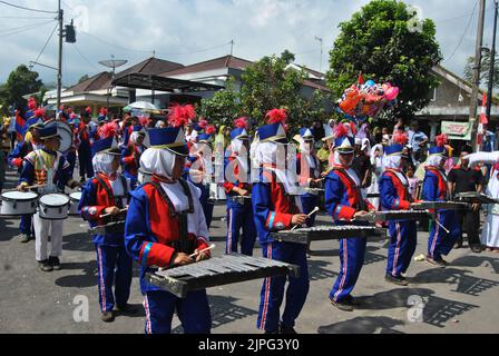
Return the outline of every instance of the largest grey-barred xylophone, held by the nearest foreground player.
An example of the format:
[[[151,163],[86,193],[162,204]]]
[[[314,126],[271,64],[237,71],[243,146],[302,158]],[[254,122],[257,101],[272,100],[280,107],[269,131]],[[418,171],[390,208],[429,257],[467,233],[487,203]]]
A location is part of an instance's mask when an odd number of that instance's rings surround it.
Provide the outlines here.
[[[232,254],[147,273],[146,277],[151,285],[185,298],[193,290],[283,275],[299,277],[300,267],[263,257]]]

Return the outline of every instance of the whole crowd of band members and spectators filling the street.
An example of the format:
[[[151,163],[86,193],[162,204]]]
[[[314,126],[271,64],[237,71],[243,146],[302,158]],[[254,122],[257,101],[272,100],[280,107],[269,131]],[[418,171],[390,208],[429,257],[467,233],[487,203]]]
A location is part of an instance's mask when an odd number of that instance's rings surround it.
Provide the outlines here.
[[[456,166],[447,137],[430,142],[417,121],[405,128],[400,120],[393,130],[372,132],[368,123],[349,120],[290,128],[286,110],[274,109],[261,127],[239,118],[233,128],[217,129],[192,106],[175,105],[167,118],[154,121],[130,113],[109,117],[105,109],[92,119],[90,109],[76,115],[63,107],[48,117],[33,100],[29,105],[25,120],[20,111],[14,113],[16,122],[26,122],[25,138],[12,142],[8,157],[19,172],[17,189],[47,195],[79,188],[78,210],[91,228],[125,221],[124,231],[94,236],[101,319],[112,322],[115,307],[137,313],[128,304],[135,260],[140,265],[146,333],[169,333],[175,310],[186,333],[211,332],[206,290],[178,298],[153,285],[147,274],[211,258],[214,186],[227,204],[226,254],[252,256],[258,240],[265,258],[301,268],[299,277],[268,277],[263,283],[257,327],[268,334],[295,333],[310,288],[307,246],[276,241],[273,233],[313,227],[321,205],[335,225],[362,226],[369,225],[362,217],[375,211],[411,210],[422,200],[449,201],[458,192],[486,191],[492,198],[499,192],[499,155],[476,156],[467,147]],[[59,151],[62,136],[55,121],[71,132],[65,152]],[[80,179],[74,179],[77,159]],[[488,179],[480,162],[493,165]],[[499,251],[497,207],[488,210],[481,240],[479,204],[459,214],[433,211],[427,261],[448,266],[443,256],[462,246],[461,220],[474,253],[482,246]],[[21,217],[21,241],[36,239],[42,271],[63,266],[63,224],[39,212]],[[380,224],[390,236],[384,278],[407,286],[417,221],[401,217]],[[340,310],[352,312],[358,305],[352,291],[365,249],[365,238],[340,239],[339,276],[329,295]]]

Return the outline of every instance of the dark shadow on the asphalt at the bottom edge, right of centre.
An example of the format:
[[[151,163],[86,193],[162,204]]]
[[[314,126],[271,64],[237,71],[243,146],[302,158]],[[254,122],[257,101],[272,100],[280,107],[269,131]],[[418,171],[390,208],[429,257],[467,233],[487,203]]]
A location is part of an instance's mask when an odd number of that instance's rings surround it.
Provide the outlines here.
[[[319,334],[403,334],[394,327],[403,325],[401,320],[385,316],[356,317],[350,320],[321,326]]]

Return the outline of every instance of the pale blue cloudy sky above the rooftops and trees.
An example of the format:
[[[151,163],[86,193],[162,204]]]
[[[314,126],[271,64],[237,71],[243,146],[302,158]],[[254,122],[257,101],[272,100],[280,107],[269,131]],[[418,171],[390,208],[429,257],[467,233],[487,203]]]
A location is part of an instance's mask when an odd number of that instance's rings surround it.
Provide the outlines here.
[[[17,6],[56,11],[57,0],[7,0]],[[106,70],[100,60],[128,60],[128,67],[155,53],[190,65],[231,53],[257,60],[288,49],[296,63],[329,69],[337,26],[369,0],[63,0],[65,22],[75,19],[77,43],[63,46],[63,86]],[[478,0],[407,0],[437,24],[442,65],[462,75],[474,55]],[[474,11],[473,11],[474,10]],[[0,82],[20,63],[57,67],[56,14],[0,2]],[[483,46],[491,46],[493,2],[487,0]],[[50,34],[55,31],[53,36]],[[50,39],[49,39],[50,38]],[[323,56],[321,61],[321,41]],[[47,43],[47,46],[45,46]],[[45,49],[43,49],[45,47]],[[43,49],[43,51],[42,51]],[[40,56],[41,53],[41,56]],[[126,69],[127,66],[123,67]],[[53,83],[57,72],[33,70]]]

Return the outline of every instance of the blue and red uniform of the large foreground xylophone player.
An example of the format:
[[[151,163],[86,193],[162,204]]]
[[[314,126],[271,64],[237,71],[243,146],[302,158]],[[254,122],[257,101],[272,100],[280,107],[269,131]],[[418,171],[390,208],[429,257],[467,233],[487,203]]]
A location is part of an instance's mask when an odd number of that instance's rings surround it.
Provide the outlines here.
[[[175,185],[180,185],[178,181]],[[146,273],[158,267],[169,267],[176,253],[192,254],[208,247],[208,230],[203,218],[198,191],[185,182],[184,199],[188,197],[188,211],[176,211],[169,194],[158,189],[159,180],[146,184],[131,192],[131,201],[125,224],[125,246],[128,254],[140,264],[140,290],[145,297],[146,333],[168,334],[175,309],[187,334],[208,334],[212,320],[206,290],[190,291],[186,298],[150,285]],[[160,188],[160,187],[159,187]],[[164,196],[165,194],[165,196]],[[193,199],[193,197],[195,197]],[[169,199],[169,200],[167,200]],[[193,211],[193,212],[190,212]],[[193,224],[182,226],[179,214],[187,214]],[[188,247],[182,247],[188,241]]]

